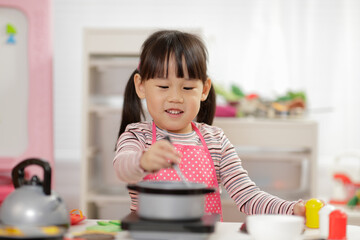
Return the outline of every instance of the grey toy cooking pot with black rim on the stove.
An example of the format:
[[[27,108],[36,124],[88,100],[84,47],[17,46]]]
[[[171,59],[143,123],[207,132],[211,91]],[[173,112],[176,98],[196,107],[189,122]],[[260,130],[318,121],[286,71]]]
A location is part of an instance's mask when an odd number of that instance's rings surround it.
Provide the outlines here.
[[[127,186],[139,193],[137,213],[149,220],[196,220],[204,215],[205,194],[215,188],[189,182],[143,181]]]

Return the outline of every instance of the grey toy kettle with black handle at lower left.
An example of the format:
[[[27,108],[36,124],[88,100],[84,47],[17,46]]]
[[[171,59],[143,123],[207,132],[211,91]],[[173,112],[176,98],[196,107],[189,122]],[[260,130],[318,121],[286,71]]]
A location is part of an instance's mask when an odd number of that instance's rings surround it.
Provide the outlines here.
[[[38,165],[44,170],[43,181],[38,176],[25,180],[25,168]],[[37,158],[26,159],[12,170],[15,190],[1,205],[0,221],[12,226],[70,225],[69,213],[60,196],[51,191],[51,167]]]

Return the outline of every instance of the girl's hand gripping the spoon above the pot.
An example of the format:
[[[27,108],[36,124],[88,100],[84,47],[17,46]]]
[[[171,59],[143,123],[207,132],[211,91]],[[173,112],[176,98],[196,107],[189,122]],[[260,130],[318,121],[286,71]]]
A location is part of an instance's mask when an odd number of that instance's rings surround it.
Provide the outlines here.
[[[156,172],[162,168],[169,168],[173,164],[179,164],[181,154],[167,140],[155,142],[149,150],[143,153],[140,159],[140,167],[147,172]]]

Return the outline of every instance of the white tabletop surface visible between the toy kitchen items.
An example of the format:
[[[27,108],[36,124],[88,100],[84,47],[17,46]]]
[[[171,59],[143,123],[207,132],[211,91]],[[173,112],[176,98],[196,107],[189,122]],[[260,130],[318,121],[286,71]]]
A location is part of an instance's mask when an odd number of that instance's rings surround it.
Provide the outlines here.
[[[66,237],[72,237],[73,234],[84,232],[86,227],[97,225],[97,220],[89,219],[85,220],[79,225],[71,226],[69,233]],[[104,221],[104,220],[101,220]],[[239,222],[218,222],[215,226],[215,232],[210,235],[209,240],[251,240],[251,236],[245,233],[239,232],[241,223]],[[318,239],[318,229],[306,229],[302,235],[302,240]],[[131,240],[129,231],[121,231],[116,234],[117,240]],[[359,240],[360,239],[360,226],[348,225],[347,226],[347,240]]]

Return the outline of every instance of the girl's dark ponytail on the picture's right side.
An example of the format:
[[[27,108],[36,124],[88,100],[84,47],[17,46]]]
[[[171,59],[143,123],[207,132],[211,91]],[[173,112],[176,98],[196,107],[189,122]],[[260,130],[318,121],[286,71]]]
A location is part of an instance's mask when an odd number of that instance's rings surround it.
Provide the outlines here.
[[[216,109],[216,93],[213,85],[205,101],[201,102],[196,121],[212,125]]]

